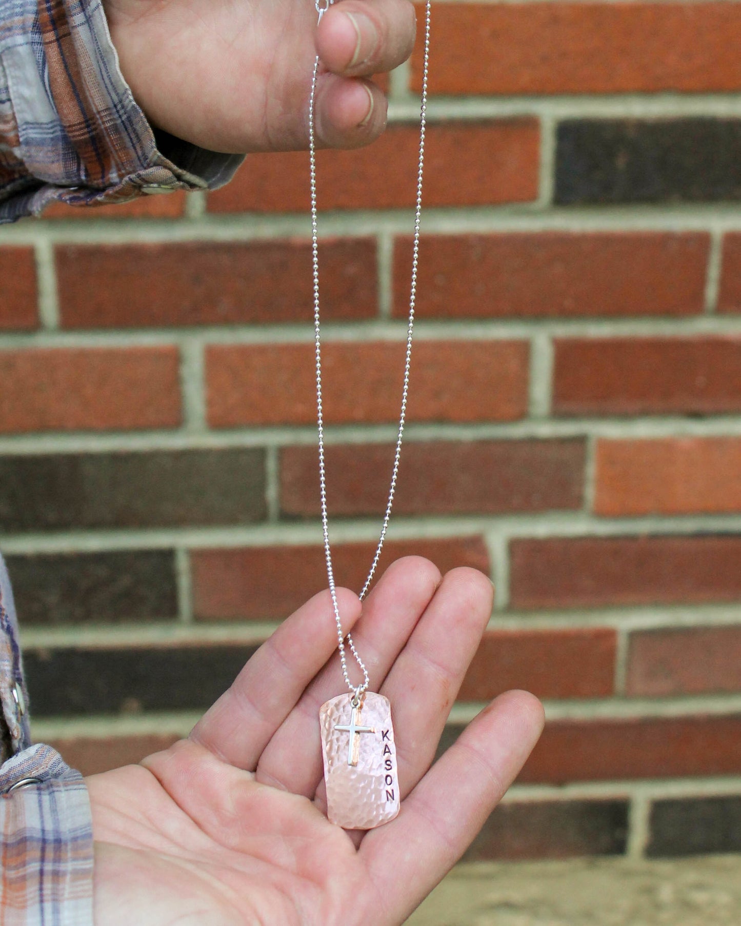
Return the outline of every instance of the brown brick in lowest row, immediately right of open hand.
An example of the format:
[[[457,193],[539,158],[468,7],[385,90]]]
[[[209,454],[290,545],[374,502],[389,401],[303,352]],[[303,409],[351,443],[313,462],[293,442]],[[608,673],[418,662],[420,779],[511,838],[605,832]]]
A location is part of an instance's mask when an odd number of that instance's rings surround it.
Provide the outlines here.
[[[508,801],[496,807],[461,861],[620,856],[627,801]]]

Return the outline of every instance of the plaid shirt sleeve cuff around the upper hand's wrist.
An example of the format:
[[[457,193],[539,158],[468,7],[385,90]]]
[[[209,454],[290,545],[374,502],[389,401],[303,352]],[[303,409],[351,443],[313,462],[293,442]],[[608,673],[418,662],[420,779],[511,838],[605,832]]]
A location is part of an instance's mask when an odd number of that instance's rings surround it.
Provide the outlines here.
[[[54,200],[215,189],[243,159],[153,131],[101,0],[0,0],[0,224]]]

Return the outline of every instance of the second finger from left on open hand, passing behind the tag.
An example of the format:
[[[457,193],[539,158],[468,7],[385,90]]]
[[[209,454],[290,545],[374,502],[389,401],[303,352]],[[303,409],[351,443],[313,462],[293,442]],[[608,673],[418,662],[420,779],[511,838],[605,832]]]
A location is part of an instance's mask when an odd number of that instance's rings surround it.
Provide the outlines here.
[[[369,594],[353,641],[368,669],[372,691],[378,690],[394,665],[438,582],[440,573],[429,560],[405,557],[386,569]],[[352,681],[362,680],[349,652],[347,667]],[[335,654],[266,747],[257,765],[258,782],[314,797],[322,778],[319,709],[324,701],[345,691],[339,655]]]

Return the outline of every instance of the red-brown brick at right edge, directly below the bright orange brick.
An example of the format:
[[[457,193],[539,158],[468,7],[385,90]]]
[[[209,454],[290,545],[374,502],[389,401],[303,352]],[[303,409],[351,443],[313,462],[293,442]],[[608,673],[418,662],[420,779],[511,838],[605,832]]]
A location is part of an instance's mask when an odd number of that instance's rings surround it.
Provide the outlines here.
[[[741,537],[552,537],[509,546],[512,607],[741,601]]]

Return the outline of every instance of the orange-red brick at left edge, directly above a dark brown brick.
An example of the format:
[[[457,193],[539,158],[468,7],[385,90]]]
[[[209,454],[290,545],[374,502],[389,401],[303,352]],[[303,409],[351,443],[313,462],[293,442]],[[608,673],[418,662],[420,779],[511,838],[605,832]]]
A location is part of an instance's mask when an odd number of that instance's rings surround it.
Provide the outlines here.
[[[174,428],[176,347],[0,352],[0,432]]]

